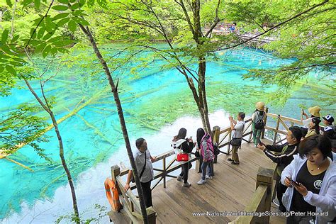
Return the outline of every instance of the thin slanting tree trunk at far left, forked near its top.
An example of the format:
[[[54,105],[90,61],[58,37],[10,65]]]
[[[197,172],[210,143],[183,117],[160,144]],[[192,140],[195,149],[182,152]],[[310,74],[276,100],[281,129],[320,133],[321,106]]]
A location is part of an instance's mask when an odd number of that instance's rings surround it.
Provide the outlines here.
[[[60,147],[60,158],[61,158],[61,161],[62,161],[62,166],[65,169],[65,173],[67,174],[67,181],[69,182],[69,186],[70,186],[70,190],[71,190],[71,194],[72,194],[72,205],[74,207],[75,222],[77,224],[79,224],[80,223],[80,218],[79,218],[79,212],[78,212],[78,206],[77,206],[76,192],[74,191],[74,182],[72,181],[71,173],[70,173],[70,171],[67,167],[67,162],[65,161],[62,136],[60,134],[60,130],[58,129],[58,124],[57,124],[56,118],[54,116],[54,113],[52,113],[52,110],[50,109],[50,106],[48,106],[47,99],[45,99],[45,103],[43,103],[43,101],[40,99],[38,94],[36,94],[34,89],[30,86],[30,83],[28,82],[28,80],[27,79],[24,79],[24,80],[25,80],[26,85],[28,86],[28,89],[30,90],[30,92],[35,96],[35,99],[38,101],[38,103],[40,103],[40,106],[42,106],[43,109],[45,111],[47,111],[47,113],[49,113],[49,116],[52,120],[52,125],[54,125],[55,133],[57,135],[58,144],[59,144],[59,147]],[[43,87],[42,86],[41,86],[41,91],[43,92]],[[44,96],[44,94],[43,94],[43,96]]]

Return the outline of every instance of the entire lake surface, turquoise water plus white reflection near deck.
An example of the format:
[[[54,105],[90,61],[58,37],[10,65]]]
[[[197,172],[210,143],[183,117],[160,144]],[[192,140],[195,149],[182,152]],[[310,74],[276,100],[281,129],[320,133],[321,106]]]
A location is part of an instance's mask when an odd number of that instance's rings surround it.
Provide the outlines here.
[[[247,69],[291,62],[249,49],[235,50],[230,55],[219,54],[218,57],[221,58],[219,62],[207,63],[207,94],[210,111],[221,110],[211,115],[211,125],[222,127],[228,125],[225,118],[229,113],[252,113],[254,103],[265,100],[265,93],[275,88],[262,86],[257,81],[242,80],[242,74]],[[40,61],[40,64],[43,62]],[[201,126],[201,121],[195,117],[198,115],[197,108],[184,77],[174,69],[160,71],[158,67],[155,65],[143,71],[141,79],[134,79],[127,73],[123,77],[120,75],[119,84],[130,138],[134,142],[136,138],[145,136],[153,155],[169,150],[172,135],[176,135],[182,126],[188,128],[191,135],[195,135],[196,129]],[[57,118],[72,111],[79,102],[84,103],[94,97],[77,115],[60,124],[65,157],[77,188],[79,208],[85,217],[91,217],[92,213],[96,215],[91,209],[95,203],[108,207],[103,180],[110,175],[109,167],[118,162],[128,164],[128,158],[107,82],[101,84],[90,78],[78,78],[86,73],[79,67],[62,67],[57,78],[48,82],[45,88],[48,96],[56,96],[54,110]],[[33,82],[33,86],[38,84]],[[309,91],[307,86],[298,88],[284,107],[270,106],[270,111],[299,118],[299,103],[307,107],[318,103],[310,98]],[[35,103],[27,89],[16,89],[11,96],[0,99],[0,113],[25,102]],[[39,115],[46,117],[44,112]],[[57,140],[53,130],[47,135],[50,135],[50,142],[41,144],[41,147],[54,160],[52,165],[40,159],[30,147],[23,147],[10,158],[34,172],[0,160],[0,220],[4,219],[5,223],[28,223],[32,219],[33,223],[51,223],[60,215],[71,212],[71,196],[58,157]]]

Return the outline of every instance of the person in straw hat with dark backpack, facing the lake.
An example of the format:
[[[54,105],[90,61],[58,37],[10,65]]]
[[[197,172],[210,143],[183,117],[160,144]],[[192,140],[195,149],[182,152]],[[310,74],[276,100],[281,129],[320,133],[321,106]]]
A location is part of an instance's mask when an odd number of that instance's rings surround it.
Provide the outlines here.
[[[253,143],[254,147],[257,147],[257,138],[260,138],[262,135],[262,130],[264,130],[264,118],[266,116],[266,112],[264,111],[265,103],[259,101],[255,104],[256,110],[252,114],[252,133],[253,133]],[[257,125],[256,125],[257,123]]]

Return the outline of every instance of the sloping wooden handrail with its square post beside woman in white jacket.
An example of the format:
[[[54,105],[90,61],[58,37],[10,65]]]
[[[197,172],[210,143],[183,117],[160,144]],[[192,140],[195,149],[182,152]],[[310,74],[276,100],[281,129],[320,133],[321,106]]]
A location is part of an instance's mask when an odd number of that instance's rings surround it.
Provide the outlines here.
[[[271,211],[271,200],[275,191],[273,184],[276,174],[276,164],[271,169],[259,167],[257,172],[256,190],[252,195],[250,203],[245,206],[244,211],[251,214],[262,214],[265,211]],[[244,215],[236,218],[230,223],[269,223],[269,215]]]

